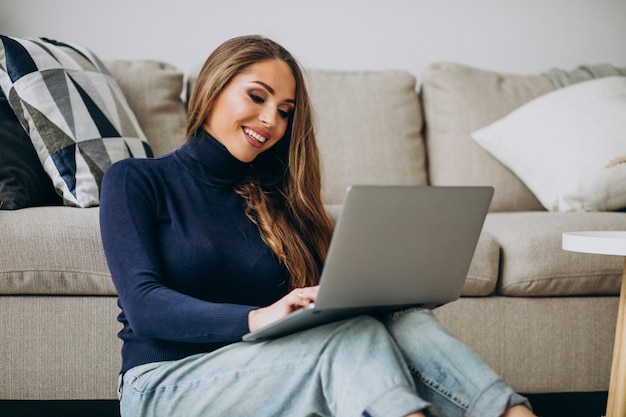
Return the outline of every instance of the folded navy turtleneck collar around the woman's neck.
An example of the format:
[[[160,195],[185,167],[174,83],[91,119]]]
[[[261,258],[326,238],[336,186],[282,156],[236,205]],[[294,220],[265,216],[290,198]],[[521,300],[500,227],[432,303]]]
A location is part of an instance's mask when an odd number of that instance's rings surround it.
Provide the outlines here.
[[[213,185],[234,185],[241,181],[250,164],[241,162],[224,145],[200,129],[180,149],[185,165],[201,180]]]

